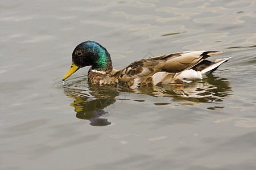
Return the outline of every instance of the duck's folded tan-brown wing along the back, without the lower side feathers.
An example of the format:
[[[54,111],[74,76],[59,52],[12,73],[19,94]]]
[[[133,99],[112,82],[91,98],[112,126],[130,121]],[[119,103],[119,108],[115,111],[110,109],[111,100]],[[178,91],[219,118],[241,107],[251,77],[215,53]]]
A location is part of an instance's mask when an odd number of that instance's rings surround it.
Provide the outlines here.
[[[178,73],[183,70],[191,69],[205,58],[214,56],[219,53],[223,52],[189,51],[140,59],[131,63],[125,69],[121,70],[121,75],[126,75],[130,79],[134,75],[148,76],[155,74],[158,71]]]

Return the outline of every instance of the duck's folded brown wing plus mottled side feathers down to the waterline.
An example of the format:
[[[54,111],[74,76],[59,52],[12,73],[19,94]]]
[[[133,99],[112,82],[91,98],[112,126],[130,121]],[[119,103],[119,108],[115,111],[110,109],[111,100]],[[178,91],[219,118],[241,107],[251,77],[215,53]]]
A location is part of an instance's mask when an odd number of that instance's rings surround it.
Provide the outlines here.
[[[140,83],[149,84],[152,81],[151,76],[155,73],[167,72],[172,75],[170,78],[173,78],[175,73],[191,69],[205,58],[218,53],[222,52],[189,51],[141,59],[117,71],[113,76],[119,82],[137,88]]]

